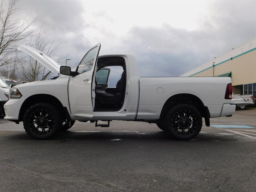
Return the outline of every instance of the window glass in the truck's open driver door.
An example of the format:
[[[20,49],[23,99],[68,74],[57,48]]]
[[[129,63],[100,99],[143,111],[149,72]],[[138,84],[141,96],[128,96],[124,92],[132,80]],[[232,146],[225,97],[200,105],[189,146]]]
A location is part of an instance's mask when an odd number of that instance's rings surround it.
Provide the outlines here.
[[[92,69],[93,61],[95,59],[95,54],[97,51],[98,51],[98,47],[94,47],[85,55],[85,57],[82,59],[82,61],[78,66],[78,70],[77,70],[78,73],[84,73]]]

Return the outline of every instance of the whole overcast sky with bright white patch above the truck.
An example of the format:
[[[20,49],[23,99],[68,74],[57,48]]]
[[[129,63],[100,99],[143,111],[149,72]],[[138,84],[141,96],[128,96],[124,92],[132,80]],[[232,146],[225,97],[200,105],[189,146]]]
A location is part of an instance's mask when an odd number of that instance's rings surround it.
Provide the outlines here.
[[[140,76],[179,76],[256,36],[256,1],[28,1],[21,17],[44,23],[75,65],[93,45],[132,53]]]

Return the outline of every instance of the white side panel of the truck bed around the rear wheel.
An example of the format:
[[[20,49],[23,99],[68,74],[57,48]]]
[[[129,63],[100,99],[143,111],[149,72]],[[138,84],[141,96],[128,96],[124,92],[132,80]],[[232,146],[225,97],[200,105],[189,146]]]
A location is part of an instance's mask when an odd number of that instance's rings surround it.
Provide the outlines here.
[[[228,83],[231,83],[229,77],[140,77],[137,119],[159,119],[164,103],[173,95],[183,93],[195,95],[208,107],[211,117],[219,117],[223,105],[230,100],[224,99],[225,92],[220,94],[216,90],[226,90]],[[159,88],[164,90],[162,95],[157,93]],[[232,111],[235,112],[234,107]]]

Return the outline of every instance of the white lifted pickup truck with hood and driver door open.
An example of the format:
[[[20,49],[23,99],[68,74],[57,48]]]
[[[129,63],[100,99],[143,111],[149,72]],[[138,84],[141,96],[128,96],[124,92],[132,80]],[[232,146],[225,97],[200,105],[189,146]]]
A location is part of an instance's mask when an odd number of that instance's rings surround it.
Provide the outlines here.
[[[201,131],[202,117],[210,126],[210,117],[232,116],[236,109],[230,77],[139,77],[133,55],[98,56],[100,44],[85,54],[75,71],[32,47],[18,49],[59,74],[53,80],[10,86],[4,118],[23,121],[25,131],[36,139],[67,130],[75,120],[103,127],[111,120],[125,120],[156,123],[176,139],[189,140]],[[108,87],[111,66],[123,71],[116,87]]]

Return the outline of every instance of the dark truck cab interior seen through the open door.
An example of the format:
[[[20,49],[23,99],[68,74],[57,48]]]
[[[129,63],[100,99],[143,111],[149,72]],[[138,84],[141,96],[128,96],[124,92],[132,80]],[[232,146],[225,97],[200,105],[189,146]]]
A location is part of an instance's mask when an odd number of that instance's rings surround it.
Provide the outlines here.
[[[111,66],[121,66],[123,72],[115,87],[108,86]],[[97,61],[95,76],[94,111],[118,111],[124,103],[126,87],[126,68],[123,57],[105,57]]]

